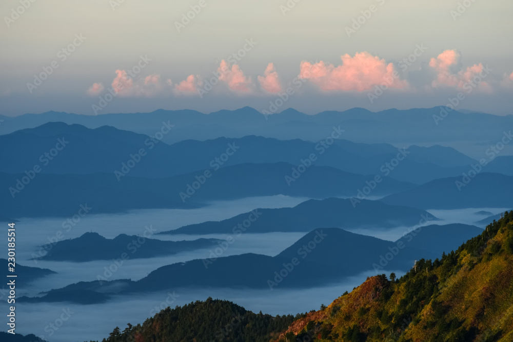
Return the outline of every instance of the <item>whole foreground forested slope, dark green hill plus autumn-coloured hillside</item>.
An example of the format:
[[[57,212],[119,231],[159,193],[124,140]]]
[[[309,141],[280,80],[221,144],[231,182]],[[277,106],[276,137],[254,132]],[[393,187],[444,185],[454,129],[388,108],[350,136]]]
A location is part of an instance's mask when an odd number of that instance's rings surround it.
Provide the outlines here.
[[[104,341],[513,340],[513,211],[457,251],[420,259],[401,278],[369,277],[319,311],[255,314],[208,298],[167,308]]]

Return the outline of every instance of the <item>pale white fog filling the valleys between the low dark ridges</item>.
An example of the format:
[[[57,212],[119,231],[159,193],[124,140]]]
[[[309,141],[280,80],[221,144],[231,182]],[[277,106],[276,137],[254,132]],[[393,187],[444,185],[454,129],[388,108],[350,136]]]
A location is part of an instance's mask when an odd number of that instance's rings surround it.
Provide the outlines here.
[[[307,198],[294,198],[289,196],[253,197],[242,200],[214,202],[209,206],[192,210],[136,210],[115,215],[91,213],[81,218],[69,232],[62,228],[66,218],[23,218],[16,224],[18,238],[18,258],[24,266],[48,268],[56,271],[44,278],[35,280],[31,284],[24,284],[18,289],[18,298],[22,295],[34,296],[42,291],[62,288],[77,281],[96,280],[98,274],[103,273],[104,267],[108,267],[111,260],[96,260],[86,263],[72,263],[68,261],[31,260],[33,253],[40,251],[41,245],[49,242],[56,232],[63,231],[64,238],[76,238],[86,232],[97,232],[107,238],[113,238],[119,234],[140,235],[145,226],[152,225],[157,232],[176,229],[188,224],[201,223],[206,220],[222,220],[255,208],[283,208],[293,207]],[[471,208],[459,210],[428,210],[430,214],[441,220],[432,221],[429,224],[465,223],[474,224],[476,221],[487,217],[486,214],[478,214],[479,211],[500,213],[506,208]],[[420,218],[419,218],[420,219]],[[323,227],[321,227],[323,228]],[[386,240],[396,240],[406,232],[417,227],[394,227],[392,229],[355,229],[354,233],[370,235]],[[305,233],[265,233],[253,234],[250,228],[223,251],[221,256],[236,255],[242,253],[257,253],[274,256],[292,245]],[[209,235],[152,235],[151,238],[162,240],[196,239],[200,237],[212,237],[226,239],[227,234]],[[215,247],[215,245],[214,245]],[[191,259],[203,259],[211,257],[212,249],[200,249],[178,253],[171,256],[155,257],[147,259],[128,259],[109,280],[129,278],[138,280],[149,272],[161,266],[180,263]],[[3,250],[5,253],[5,250]],[[6,257],[6,255],[2,255]],[[350,260],[349,260],[350,261]],[[395,272],[398,276],[404,272],[397,270],[383,271],[387,275]],[[80,341],[86,338],[102,339],[116,326],[124,329],[127,323],[136,325],[144,319],[155,314],[156,309],[167,306],[184,305],[196,300],[205,300],[213,297],[231,300],[253,312],[262,311],[268,314],[296,314],[310,310],[318,310],[321,304],[328,305],[334,298],[344,291],[351,291],[359,286],[368,276],[376,275],[369,265],[369,271],[358,276],[347,277],[339,284],[331,284],[325,287],[312,289],[280,289],[279,286],[264,290],[244,289],[169,289],[168,292],[149,293],[145,295],[116,296],[104,304],[77,305],[72,303],[19,303],[16,306],[19,332],[34,333],[44,336],[55,342]],[[19,279],[20,281],[22,279]],[[18,285],[19,286],[19,285]],[[0,295],[5,297],[5,287]],[[2,306],[6,306],[2,300]],[[160,307],[160,308],[159,308]],[[73,312],[57,331],[49,328],[50,323],[61,316],[63,309]],[[108,312],[109,319],[105,318]],[[4,318],[5,320],[5,318]],[[60,323],[60,322],[57,322]],[[46,331],[45,331],[46,327]],[[51,334],[51,336],[50,336]],[[76,336],[80,336],[76,337]]]

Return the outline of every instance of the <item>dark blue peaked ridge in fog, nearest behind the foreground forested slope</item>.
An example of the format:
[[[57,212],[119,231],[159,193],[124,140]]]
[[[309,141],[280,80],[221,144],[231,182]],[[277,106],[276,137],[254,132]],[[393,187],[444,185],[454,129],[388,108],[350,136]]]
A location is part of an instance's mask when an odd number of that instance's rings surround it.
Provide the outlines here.
[[[305,288],[372,269],[377,274],[384,268],[408,270],[415,259],[450,252],[482,231],[468,225],[431,225],[389,242],[339,228],[318,228],[274,257],[252,253],[219,257],[212,249],[204,259],[163,266],[137,281],[98,278],[51,290],[43,297],[20,299],[92,304],[113,294],[171,288]]]

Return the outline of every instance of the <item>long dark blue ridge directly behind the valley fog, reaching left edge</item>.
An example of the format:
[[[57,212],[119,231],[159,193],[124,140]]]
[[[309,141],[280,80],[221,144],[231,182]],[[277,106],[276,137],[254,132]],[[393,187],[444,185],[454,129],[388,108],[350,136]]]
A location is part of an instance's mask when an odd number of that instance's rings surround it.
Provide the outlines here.
[[[76,213],[81,204],[87,204],[95,213],[150,208],[187,209],[200,207],[212,200],[279,194],[312,198],[349,197],[357,196],[357,187],[363,188],[373,179],[373,176],[311,166],[289,186],[285,176],[292,174],[292,168],[285,163],[240,164],[211,171],[208,179],[201,178],[204,177],[203,172],[195,172],[170,178],[142,178],[129,174],[120,181],[113,173],[41,173],[19,192],[10,192],[9,189],[17,189],[17,180],[21,182],[26,174],[4,173],[0,177],[0,187],[5,189],[0,193],[1,213],[12,217],[69,216]],[[203,180],[203,184],[196,177]],[[408,183],[383,178],[373,195],[386,195],[412,187]]]

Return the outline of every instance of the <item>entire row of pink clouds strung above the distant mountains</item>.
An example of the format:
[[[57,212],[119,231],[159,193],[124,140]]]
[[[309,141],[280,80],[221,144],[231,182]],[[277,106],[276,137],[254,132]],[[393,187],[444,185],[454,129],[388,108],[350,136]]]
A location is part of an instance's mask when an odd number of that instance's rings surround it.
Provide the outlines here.
[[[477,88],[491,92],[494,86],[511,88],[513,86],[513,73],[504,73],[501,79],[494,81],[493,77],[486,78],[492,69],[483,66],[482,63],[466,68],[460,65],[461,55],[456,50],[445,50],[436,57],[429,59],[429,68],[435,72],[425,78],[419,89],[426,91],[429,88],[457,89]],[[404,75],[401,75],[393,63],[387,63],[384,58],[374,56],[368,52],[356,53],[354,56],[345,54],[341,56],[341,64],[335,66],[324,61],[300,63],[299,78],[305,82],[318,86],[322,91],[368,91],[374,87],[387,84],[389,88],[413,89]],[[254,87],[251,76],[247,76],[238,64],[230,65],[224,59],[213,72],[218,82],[227,85],[227,89],[234,93],[253,93]],[[130,72],[118,69],[111,83],[112,89],[121,97],[145,96],[152,97],[158,94],[166,94],[166,88],[172,87],[176,95],[198,92],[198,86],[202,86],[200,75],[189,75],[184,81],[173,83],[170,78],[161,79],[161,74],[150,74],[139,79],[131,77]],[[427,74],[426,74],[427,75]],[[403,77],[403,78],[402,78]],[[485,80],[486,78],[486,80]],[[278,94],[283,91],[282,81],[276,71],[274,63],[268,63],[264,74],[257,76],[261,92],[267,95]],[[470,86],[469,86],[470,85]],[[418,86],[417,86],[418,87]],[[226,88],[224,88],[226,91]],[[102,83],[94,83],[88,88],[89,95],[99,95],[104,91]],[[216,93],[221,94],[223,88]]]

